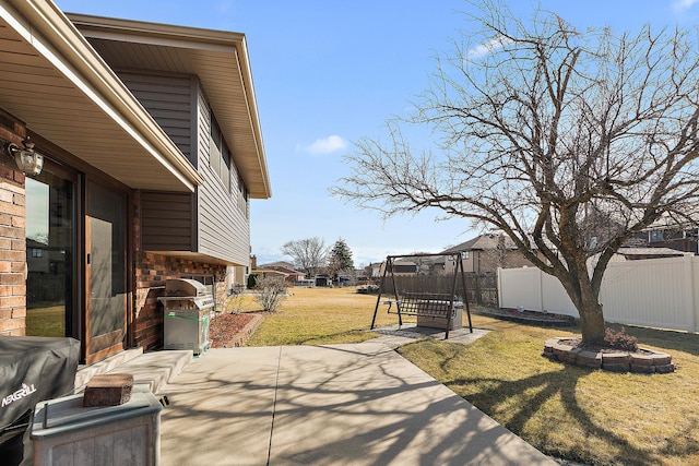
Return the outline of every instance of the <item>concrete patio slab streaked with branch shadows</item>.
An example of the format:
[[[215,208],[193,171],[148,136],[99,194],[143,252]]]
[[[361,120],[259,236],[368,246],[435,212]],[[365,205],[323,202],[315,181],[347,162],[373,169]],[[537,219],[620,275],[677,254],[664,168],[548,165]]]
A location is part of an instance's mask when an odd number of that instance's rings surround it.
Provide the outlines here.
[[[212,349],[165,389],[163,465],[556,465],[380,340]]]

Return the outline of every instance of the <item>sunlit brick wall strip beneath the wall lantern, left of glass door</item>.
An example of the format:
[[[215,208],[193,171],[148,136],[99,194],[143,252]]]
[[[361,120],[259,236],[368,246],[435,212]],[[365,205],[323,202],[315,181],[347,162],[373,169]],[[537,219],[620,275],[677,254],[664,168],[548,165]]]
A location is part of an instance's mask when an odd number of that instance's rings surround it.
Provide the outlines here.
[[[3,121],[8,124],[9,122]],[[0,123],[0,138],[20,143],[24,128]],[[12,127],[12,124],[10,124]],[[0,142],[0,150],[4,144]],[[0,154],[0,335],[25,335],[26,206],[24,174]]]

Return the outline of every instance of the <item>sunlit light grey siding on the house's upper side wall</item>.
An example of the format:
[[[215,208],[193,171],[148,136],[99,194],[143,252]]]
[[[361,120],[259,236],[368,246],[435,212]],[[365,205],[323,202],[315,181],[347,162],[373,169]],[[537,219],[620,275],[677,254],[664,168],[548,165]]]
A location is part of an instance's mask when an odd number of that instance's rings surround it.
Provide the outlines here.
[[[199,96],[199,172],[204,183],[198,189],[199,252],[228,263],[247,265],[250,260],[250,223],[237,205],[238,192],[229,192],[209,164],[210,110],[203,95]],[[238,175],[234,166],[230,176]]]

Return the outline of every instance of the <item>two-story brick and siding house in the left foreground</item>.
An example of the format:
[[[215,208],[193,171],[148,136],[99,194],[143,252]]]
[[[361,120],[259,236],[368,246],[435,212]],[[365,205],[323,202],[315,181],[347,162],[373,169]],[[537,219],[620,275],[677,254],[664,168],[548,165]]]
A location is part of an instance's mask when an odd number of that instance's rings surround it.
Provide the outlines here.
[[[166,279],[218,301],[245,283],[249,200],[271,189],[242,34],[8,0],[0,51],[0,334],[46,306],[27,237],[47,240],[50,306],[86,363],[163,344]],[[37,175],[13,157],[33,151]]]

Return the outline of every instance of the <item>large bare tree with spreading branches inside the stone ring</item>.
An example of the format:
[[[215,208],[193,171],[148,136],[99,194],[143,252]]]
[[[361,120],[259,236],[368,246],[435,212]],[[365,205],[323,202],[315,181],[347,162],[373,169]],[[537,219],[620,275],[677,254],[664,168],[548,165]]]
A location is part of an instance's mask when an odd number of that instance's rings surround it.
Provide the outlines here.
[[[613,254],[660,217],[695,220],[697,44],[478,5],[477,33],[437,60],[416,113],[389,120],[388,142],[360,141],[333,192],[386,216],[437,207],[502,230],[560,280],[584,343],[600,344]],[[429,126],[439,151],[414,154],[410,123]]]

